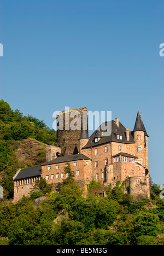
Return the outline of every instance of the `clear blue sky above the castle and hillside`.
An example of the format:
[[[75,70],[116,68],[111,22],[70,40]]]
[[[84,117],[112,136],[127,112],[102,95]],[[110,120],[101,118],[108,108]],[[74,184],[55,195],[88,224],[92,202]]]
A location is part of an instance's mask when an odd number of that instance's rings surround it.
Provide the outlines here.
[[[149,134],[149,171],[163,171],[163,0],[0,0],[0,98],[52,128],[55,110],[111,110]]]

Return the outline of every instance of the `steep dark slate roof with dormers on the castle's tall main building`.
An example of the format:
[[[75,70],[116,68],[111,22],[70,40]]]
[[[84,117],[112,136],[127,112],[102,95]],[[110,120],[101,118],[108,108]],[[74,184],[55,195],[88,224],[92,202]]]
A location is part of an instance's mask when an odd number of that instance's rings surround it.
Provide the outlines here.
[[[90,147],[94,147],[97,145],[101,145],[101,144],[105,144],[105,143],[109,143],[109,142],[119,142],[119,143],[135,143],[134,139],[133,139],[133,132],[130,132],[130,140],[127,141],[126,139],[126,128],[124,127],[124,125],[122,125],[119,122],[119,126],[116,125],[115,121],[108,121],[106,123],[102,124],[103,126],[107,126],[108,127],[108,136],[104,136],[106,135],[105,132],[102,132],[101,130],[101,126],[99,126],[99,128],[95,131],[97,132],[98,130],[101,131],[101,139],[98,142],[95,142],[95,132],[92,133],[92,135],[89,138],[89,141],[87,142],[87,144],[83,147],[83,148],[90,148]],[[103,127],[102,126],[102,127]],[[118,139],[116,138],[116,135],[122,135],[122,139]]]

